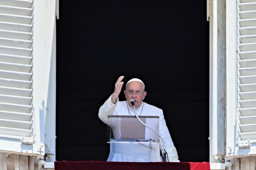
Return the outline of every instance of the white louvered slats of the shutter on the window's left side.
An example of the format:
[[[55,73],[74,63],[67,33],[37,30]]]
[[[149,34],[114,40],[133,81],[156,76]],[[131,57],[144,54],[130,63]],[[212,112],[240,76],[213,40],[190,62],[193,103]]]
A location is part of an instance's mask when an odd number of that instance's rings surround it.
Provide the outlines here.
[[[32,51],[33,1],[0,0],[1,151],[34,152]]]

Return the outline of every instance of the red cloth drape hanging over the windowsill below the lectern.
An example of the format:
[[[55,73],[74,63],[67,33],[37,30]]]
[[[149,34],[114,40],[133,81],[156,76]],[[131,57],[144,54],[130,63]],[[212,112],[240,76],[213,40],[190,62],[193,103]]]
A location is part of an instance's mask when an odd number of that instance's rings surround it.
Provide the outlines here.
[[[210,170],[209,162],[55,161],[55,170]]]

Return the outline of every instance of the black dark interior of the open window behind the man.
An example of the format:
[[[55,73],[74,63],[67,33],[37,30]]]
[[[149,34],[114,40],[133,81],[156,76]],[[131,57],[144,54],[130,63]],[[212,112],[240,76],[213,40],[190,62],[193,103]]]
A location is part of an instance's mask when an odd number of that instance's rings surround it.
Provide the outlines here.
[[[98,110],[124,75],[140,78],[144,101],[163,109],[180,161],[208,162],[206,2],[60,1],[59,10],[56,160],[107,159]]]

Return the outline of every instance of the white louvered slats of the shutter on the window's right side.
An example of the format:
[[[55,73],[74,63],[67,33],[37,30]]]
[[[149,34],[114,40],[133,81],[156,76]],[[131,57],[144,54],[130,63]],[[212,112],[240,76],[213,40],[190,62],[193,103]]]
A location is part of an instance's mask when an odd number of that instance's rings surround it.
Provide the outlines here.
[[[235,155],[256,154],[256,0],[238,1]]]

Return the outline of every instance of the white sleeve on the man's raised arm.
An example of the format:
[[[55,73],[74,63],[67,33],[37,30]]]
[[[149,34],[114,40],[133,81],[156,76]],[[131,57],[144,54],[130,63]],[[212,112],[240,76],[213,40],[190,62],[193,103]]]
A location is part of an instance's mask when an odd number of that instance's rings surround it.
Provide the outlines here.
[[[100,107],[99,109],[99,118],[102,122],[105,124],[108,124],[108,115],[113,115],[115,108],[117,106],[117,102],[119,101],[119,98],[117,97],[117,100],[115,104],[111,101],[112,95],[105,101],[105,103]]]

